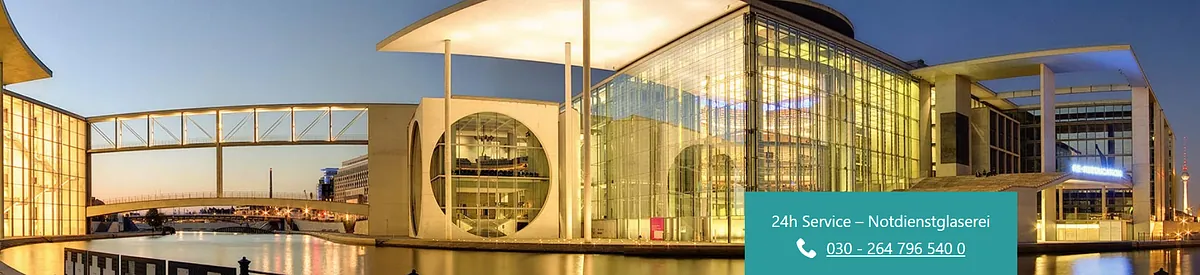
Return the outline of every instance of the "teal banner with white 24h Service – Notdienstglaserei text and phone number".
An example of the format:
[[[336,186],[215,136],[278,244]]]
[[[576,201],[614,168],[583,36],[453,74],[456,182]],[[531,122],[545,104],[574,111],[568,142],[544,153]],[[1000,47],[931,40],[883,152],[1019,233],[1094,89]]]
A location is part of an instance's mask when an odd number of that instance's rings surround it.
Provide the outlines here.
[[[748,192],[746,274],[1016,274],[1014,192]]]

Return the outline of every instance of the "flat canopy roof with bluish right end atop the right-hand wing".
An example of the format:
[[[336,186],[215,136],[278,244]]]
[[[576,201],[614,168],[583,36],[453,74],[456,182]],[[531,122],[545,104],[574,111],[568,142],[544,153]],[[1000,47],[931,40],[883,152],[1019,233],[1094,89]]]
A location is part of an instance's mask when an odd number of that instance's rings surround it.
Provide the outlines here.
[[[1093,46],[1015,53],[913,70],[932,82],[937,76],[960,74],[976,82],[1038,76],[1045,64],[1055,73],[1115,71],[1133,86],[1150,86],[1128,44]]]

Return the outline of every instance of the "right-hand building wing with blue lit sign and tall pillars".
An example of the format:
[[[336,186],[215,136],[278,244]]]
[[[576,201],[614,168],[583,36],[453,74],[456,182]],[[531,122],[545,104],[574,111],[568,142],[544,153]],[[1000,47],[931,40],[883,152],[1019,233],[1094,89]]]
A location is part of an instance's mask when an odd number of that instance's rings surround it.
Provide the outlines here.
[[[953,191],[953,185],[935,186],[956,179],[1018,192],[1019,201],[1037,204],[1019,215],[1040,216],[1036,223],[1022,220],[1022,228],[1037,227],[1037,234],[1022,231],[1022,241],[1133,240],[1178,232],[1175,134],[1132,47],[1038,50],[912,73],[932,85],[930,165],[936,178],[947,178],[919,180],[913,190]],[[1115,73],[1124,83],[1055,85],[1057,74],[1072,73]],[[1037,77],[1039,85],[996,92],[979,83],[1019,77]],[[1088,98],[1079,97],[1085,94],[1115,98],[1078,100]],[[1016,106],[1018,100],[1037,104]],[[1034,184],[1020,190],[1006,187],[1012,177],[1032,174],[1044,177],[1022,178]]]

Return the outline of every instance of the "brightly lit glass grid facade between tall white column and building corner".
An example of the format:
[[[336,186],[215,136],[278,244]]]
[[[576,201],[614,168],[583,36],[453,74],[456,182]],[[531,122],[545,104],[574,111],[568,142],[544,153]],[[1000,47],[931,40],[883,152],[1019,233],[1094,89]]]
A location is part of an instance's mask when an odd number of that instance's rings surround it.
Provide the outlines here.
[[[649,239],[661,217],[666,240],[740,241],[745,19],[710,24],[593,90],[589,203],[605,237]]]

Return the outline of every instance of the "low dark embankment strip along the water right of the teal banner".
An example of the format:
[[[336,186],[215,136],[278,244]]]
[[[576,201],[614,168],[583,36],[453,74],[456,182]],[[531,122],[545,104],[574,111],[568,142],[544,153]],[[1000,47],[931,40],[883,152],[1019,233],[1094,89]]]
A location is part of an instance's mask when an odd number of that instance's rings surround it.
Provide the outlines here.
[[[1018,244],[1016,255],[1075,255],[1200,247],[1200,240],[1142,240]]]

